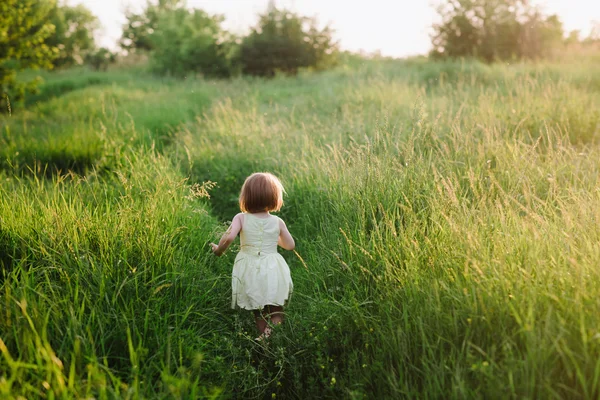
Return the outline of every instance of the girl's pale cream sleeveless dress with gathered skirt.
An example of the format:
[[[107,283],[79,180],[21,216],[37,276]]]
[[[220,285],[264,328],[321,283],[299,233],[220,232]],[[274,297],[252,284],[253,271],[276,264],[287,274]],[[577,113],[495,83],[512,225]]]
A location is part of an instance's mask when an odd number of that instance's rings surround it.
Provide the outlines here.
[[[231,280],[231,307],[246,310],[266,305],[285,305],[293,289],[290,268],[277,253],[279,217],[259,218],[244,214],[240,252],[235,257]]]

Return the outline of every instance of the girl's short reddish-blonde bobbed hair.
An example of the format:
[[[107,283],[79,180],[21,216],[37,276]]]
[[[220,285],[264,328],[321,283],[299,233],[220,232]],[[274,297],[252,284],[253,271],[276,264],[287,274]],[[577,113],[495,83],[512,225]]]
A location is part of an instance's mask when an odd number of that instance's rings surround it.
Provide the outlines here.
[[[240,210],[247,213],[279,211],[283,206],[283,185],[268,172],[246,178],[240,193]]]

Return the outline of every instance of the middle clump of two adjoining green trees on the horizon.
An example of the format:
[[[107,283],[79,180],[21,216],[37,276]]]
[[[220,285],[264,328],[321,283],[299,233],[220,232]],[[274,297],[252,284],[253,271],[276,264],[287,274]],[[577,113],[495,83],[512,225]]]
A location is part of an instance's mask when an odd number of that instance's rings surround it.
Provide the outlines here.
[[[319,28],[314,18],[277,8],[274,2],[243,37],[222,28],[222,15],[190,9],[185,0],[148,1],[144,11],[126,17],[121,48],[149,52],[150,68],[161,74],[294,75],[301,68],[335,64],[338,52],[329,26]]]

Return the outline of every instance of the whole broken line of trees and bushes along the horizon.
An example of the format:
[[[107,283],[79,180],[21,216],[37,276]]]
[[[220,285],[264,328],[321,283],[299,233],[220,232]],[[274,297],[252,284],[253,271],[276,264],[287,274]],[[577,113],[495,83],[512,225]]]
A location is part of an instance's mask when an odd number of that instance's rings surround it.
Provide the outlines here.
[[[544,15],[528,0],[444,0],[437,6],[432,59],[478,58],[487,62],[539,59],[565,43],[600,44],[600,27],[586,39],[565,37],[556,15]],[[185,0],[147,0],[141,12],[128,11],[119,46],[146,53],[158,74],[184,77],[294,75],[302,68],[335,65],[338,43],[329,26],[271,1],[245,36],[223,29],[222,15],[187,6]],[[106,69],[117,55],[98,48],[98,19],[84,6],[56,0],[0,2],[0,109],[35,90],[38,80],[17,79],[17,71],[68,68],[87,63]],[[401,40],[401,39],[399,39]],[[4,102],[4,104],[1,104]]]

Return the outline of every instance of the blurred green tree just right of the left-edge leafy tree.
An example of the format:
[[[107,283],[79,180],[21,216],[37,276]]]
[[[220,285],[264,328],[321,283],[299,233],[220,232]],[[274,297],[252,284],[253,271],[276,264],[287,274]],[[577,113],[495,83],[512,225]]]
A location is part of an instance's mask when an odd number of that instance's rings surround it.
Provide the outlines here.
[[[48,16],[54,25],[54,34],[46,38],[48,47],[57,48],[55,67],[80,65],[95,47],[94,33],[99,28],[98,18],[83,5],[55,7]]]

